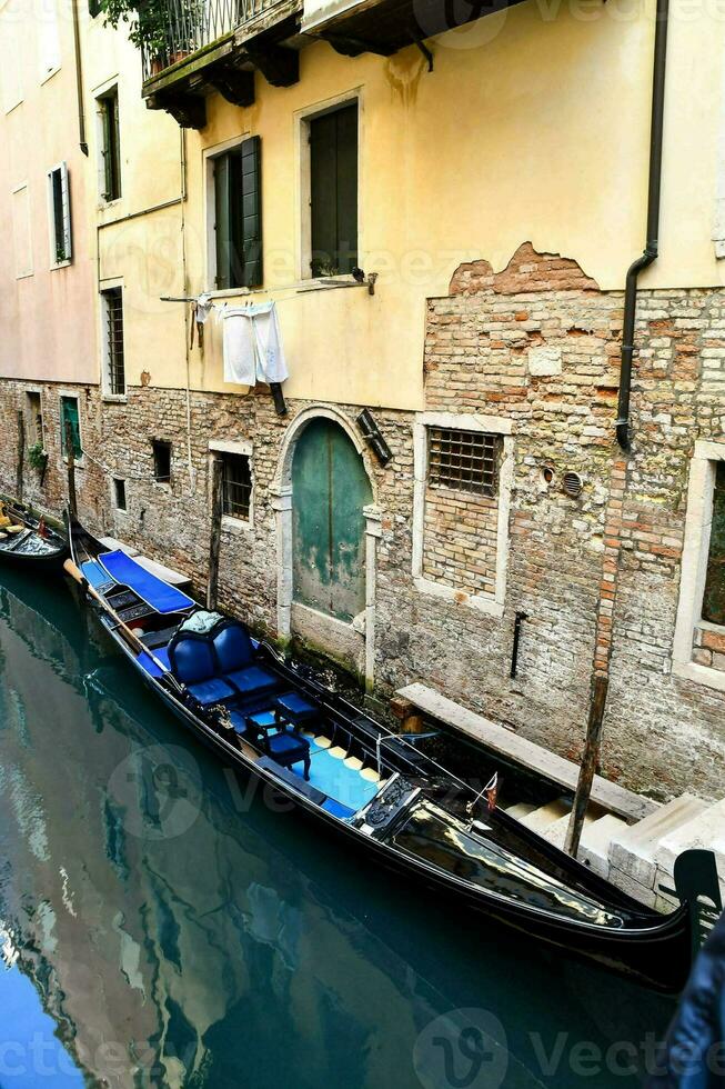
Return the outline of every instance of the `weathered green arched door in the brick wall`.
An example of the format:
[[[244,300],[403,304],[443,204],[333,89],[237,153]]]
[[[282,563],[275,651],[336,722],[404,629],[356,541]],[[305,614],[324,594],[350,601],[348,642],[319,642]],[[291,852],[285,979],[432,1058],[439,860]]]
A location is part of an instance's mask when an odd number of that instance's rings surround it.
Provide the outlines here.
[[[302,432],[292,462],[294,600],[340,620],[365,607],[365,516],[372,502],[362,458],[339,424]]]

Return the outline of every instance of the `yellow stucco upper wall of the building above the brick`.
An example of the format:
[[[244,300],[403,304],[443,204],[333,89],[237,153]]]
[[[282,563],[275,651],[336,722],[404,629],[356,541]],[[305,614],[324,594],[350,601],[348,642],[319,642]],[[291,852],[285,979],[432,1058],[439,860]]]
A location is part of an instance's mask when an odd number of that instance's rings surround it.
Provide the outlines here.
[[[662,256],[643,286],[723,280],[711,238],[722,127],[715,14],[673,0]],[[123,281],[129,383],[144,371],[155,386],[185,383],[184,308],[159,300],[211,287],[204,152],[242,134],[262,139],[265,287],[279,300],[291,397],[420,407],[425,299],[445,293],[464,260],[501,269],[531,241],[574,258],[603,288],[622,288],[644,242],[653,17],[654,0],[527,0],[433,40],[432,73],[414,48],[350,59],[311,44],[295,86],[272,88],[258,76],[249,109],[208,100],[207,127],[185,137],[183,203],[175,121],[147,110],[123,30],[85,20],[91,257],[95,226],[105,224],[98,273],[101,286]],[[99,209],[93,98],[117,77],[123,196]],[[360,263],[380,273],[376,293],[300,294],[300,118],[353,93]],[[177,203],[138,214],[169,201]],[[215,323],[189,367],[194,388],[243,392],[223,383]]]

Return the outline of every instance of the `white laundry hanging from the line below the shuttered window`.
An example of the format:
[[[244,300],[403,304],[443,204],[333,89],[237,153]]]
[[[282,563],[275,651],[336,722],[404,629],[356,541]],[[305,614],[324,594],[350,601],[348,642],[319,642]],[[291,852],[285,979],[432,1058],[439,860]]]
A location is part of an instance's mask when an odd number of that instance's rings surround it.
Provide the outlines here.
[[[283,382],[288,377],[274,302],[224,307],[221,311],[224,381],[239,386]]]

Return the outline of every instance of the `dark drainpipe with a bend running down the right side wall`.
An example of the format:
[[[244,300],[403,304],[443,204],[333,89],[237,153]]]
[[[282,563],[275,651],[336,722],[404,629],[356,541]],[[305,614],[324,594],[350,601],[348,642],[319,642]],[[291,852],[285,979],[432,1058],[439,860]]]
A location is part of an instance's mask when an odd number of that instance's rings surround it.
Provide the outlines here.
[[[637,309],[637,280],[643,269],[656,260],[659,252],[659,192],[662,187],[662,132],[665,109],[665,68],[667,59],[667,22],[669,0],[657,0],[655,16],[655,52],[652,77],[652,126],[650,129],[650,184],[647,193],[647,240],[642,257],[627,269],[624,291],[624,326],[622,329],[622,362],[620,368],[620,401],[616,436],[623,450],[630,449],[630,394],[632,391],[632,356],[634,323]]]

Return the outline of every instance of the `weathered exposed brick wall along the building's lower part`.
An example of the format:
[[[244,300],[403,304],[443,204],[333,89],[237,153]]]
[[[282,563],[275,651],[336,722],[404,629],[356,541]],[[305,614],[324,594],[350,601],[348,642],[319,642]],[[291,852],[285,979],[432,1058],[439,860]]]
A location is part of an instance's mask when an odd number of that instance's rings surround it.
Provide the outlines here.
[[[522,247],[504,272],[484,261],[463,267],[452,293],[430,300],[426,408],[500,416],[514,426],[505,610],[499,619],[415,588],[415,417],[375,409],[393,451],[386,469],[366,459],[383,518],[381,691],[420,679],[576,756],[596,662],[610,671],[603,770],[662,797],[683,790],[722,795],[725,696],[673,677],[671,661],[689,459],[697,438],[725,433],[724,307],[719,290],[641,292],[634,443],[625,463],[613,429],[621,293],[598,291],[574,262]],[[79,470],[81,511],[94,528],[188,571],[198,588],[205,583],[209,551],[209,440],[253,441],[254,524],[224,530],[220,591],[226,608],[273,632],[276,521],[270,488],[286,428],[306,404],[292,403],[290,417],[280,419],[263,391],[192,393],[188,432],[181,390],[132,389],[127,404],[105,403],[94,389],[81,392],[85,448],[129,479],[129,510],[114,512],[109,477],[89,459]],[[51,457],[43,498],[57,509],[66,493],[58,389],[44,394]],[[0,383],[0,426],[10,436],[0,448],[0,483],[9,490],[22,397],[22,383]],[[351,422],[359,411],[341,410]],[[173,442],[170,488],[150,479],[151,438]],[[576,498],[562,490],[568,471],[583,480]],[[36,484],[28,487],[37,493]],[[475,521],[475,511],[469,513]],[[481,558],[489,571],[484,537],[471,536],[477,542],[471,570]],[[460,577],[457,570],[440,573]],[[516,612],[527,620],[512,681]]]

